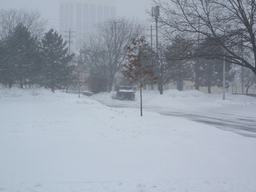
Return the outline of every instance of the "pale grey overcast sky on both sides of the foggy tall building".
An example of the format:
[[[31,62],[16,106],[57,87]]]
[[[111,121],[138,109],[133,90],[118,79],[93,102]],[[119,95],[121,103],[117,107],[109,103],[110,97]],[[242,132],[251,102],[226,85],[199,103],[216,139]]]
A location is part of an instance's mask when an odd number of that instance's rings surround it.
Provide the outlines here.
[[[147,20],[149,15],[146,9],[151,9],[151,0],[117,0],[117,16],[138,20]],[[58,28],[59,23],[59,0],[0,0],[1,9],[22,8],[38,9],[43,18],[49,19],[53,26]]]

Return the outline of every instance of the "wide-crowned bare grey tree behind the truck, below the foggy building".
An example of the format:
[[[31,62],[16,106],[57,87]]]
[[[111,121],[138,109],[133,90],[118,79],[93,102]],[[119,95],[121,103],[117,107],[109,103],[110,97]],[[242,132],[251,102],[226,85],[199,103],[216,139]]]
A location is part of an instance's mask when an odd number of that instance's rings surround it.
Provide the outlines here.
[[[126,58],[131,38],[142,35],[145,27],[125,18],[111,19],[97,25],[97,34],[80,43],[82,62],[87,69],[108,76],[108,91],[112,91],[115,74]],[[101,72],[100,72],[101,71]]]

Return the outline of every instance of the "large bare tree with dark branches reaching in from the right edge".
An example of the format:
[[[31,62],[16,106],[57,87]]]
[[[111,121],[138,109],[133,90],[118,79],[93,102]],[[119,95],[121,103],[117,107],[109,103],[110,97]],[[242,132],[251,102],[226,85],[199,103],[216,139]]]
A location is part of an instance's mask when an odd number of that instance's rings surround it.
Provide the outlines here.
[[[152,0],[160,7],[163,34],[183,35],[197,47],[211,38],[224,52],[190,51],[186,57],[208,57],[244,66],[256,74],[255,0]],[[210,45],[212,46],[212,45]],[[185,50],[185,48],[184,48]],[[205,50],[205,49],[202,49]],[[241,52],[242,50],[242,52]]]

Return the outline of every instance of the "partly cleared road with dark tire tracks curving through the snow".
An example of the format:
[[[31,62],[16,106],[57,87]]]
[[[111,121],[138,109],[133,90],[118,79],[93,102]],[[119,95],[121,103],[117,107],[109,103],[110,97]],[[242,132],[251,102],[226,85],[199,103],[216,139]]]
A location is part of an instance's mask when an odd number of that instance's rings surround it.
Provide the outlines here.
[[[99,101],[109,107],[130,107],[139,108],[140,105],[134,101]],[[166,116],[178,116],[195,122],[201,122],[220,128],[225,131],[232,131],[247,137],[256,137],[256,119],[245,116],[230,115],[216,112],[198,112],[177,110],[176,108],[144,105],[143,110],[158,112]]]

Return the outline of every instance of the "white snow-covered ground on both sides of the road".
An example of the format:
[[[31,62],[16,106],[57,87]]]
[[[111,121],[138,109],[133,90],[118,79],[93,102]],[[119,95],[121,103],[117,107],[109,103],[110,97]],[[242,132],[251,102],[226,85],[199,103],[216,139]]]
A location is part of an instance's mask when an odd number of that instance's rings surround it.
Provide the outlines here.
[[[255,138],[96,101],[111,96],[1,89],[0,191],[256,191]],[[145,105],[255,118],[256,98],[221,98],[143,92]]]

